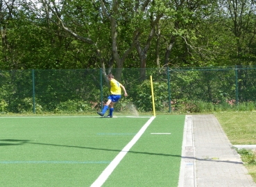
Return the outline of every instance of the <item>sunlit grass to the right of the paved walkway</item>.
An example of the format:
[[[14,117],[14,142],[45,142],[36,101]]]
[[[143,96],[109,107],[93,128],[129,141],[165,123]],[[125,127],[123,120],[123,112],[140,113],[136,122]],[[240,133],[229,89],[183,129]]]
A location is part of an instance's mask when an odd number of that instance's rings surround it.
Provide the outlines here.
[[[237,107],[242,110],[254,108],[254,105],[246,103],[246,105]],[[216,112],[214,115],[233,145],[256,144],[256,111]],[[237,152],[241,155],[249,174],[256,182],[256,152],[252,150],[237,150]]]

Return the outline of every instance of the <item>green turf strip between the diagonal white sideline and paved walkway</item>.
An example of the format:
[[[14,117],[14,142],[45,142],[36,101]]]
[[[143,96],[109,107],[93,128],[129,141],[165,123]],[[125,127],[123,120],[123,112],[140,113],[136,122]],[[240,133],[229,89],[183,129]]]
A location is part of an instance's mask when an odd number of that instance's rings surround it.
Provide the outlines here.
[[[103,186],[178,186],[184,123],[157,116]]]

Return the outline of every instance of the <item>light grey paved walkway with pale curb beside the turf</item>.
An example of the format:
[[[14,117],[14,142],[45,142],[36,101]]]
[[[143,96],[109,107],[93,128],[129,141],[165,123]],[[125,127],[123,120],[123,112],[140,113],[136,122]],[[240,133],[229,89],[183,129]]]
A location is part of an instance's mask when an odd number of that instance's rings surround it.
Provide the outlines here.
[[[179,187],[255,186],[214,115],[186,116]]]

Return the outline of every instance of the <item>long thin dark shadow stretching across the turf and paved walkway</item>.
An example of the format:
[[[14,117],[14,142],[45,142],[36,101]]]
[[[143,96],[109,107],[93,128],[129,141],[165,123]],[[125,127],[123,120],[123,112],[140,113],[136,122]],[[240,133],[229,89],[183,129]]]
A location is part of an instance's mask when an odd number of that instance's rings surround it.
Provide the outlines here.
[[[5,142],[8,142],[8,143],[1,143],[1,141],[5,141]],[[51,145],[51,146],[58,146],[58,147],[65,147],[65,148],[81,148],[81,149],[88,149],[88,150],[103,150],[103,151],[121,152],[121,150],[109,150],[109,149],[103,149],[103,148],[88,148],[88,147],[71,146],[71,145],[57,145],[57,144],[50,144],[50,143],[34,143],[34,142],[29,142],[29,140],[16,140],[16,139],[2,139],[2,140],[0,140],[0,146],[23,145],[25,143],[35,144],[35,145]],[[180,155],[175,155],[175,154],[161,154],[161,153],[137,152],[137,151],[128,151],[128,152],[129,153],[135,153],[135,154],[149,154],[149,155],[157,155],[157,156],[165,156],[165,157],[180,157],[182,159],[196,159],[198,161],[214,161],[214,162],[243,164],[243,162],[239,162],[239,161],[219,161],[219,160],[212,160],[212,159],[198,159],[198,158],[194,158],[194,157],[181,157]]]

